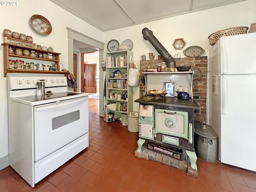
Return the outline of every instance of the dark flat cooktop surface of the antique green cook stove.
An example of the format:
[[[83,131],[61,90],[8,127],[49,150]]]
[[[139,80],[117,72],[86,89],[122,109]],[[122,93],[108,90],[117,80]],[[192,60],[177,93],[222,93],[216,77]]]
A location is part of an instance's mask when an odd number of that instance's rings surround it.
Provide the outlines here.
[[[200,106],[193,99],[185,100],[178,99],[177,97],[154,97],[150,95],[142,96],[141,98],[136,99],[134,102],[141,104],[150,104],[150,105],[162,105],[162,106],[174,106],[174,107],[183,107],[191,109],[200,109]]]

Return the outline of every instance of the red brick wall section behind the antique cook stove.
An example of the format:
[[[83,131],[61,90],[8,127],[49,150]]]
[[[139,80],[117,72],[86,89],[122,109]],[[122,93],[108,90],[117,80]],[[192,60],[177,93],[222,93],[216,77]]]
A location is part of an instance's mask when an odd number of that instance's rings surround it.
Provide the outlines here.
[[[159,62],[164,60],[141,60],[140,75],[147,69],[156,69]],[[206,88],[207,88],[207,56],[204,57],[186,57],[176,58],[177,66],[197,66],[202,71],[202,78],[198,81],[193,81],[193,96],[194,100],[200,106],[200,110],[195,110],[195,122],[206,123]],[[142,90],[145,91],[145,84],[142,83]],[[140,92],[141,97],[141,92]]]

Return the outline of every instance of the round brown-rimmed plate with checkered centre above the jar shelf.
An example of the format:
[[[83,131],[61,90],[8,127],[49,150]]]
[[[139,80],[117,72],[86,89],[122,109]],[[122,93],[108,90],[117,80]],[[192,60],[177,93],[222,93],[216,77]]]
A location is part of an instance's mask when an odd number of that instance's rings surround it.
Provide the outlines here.
[[[30,25],[40,35],[48,35],[52,32],[52,25],[42,15],[33,15],[30,18]]]

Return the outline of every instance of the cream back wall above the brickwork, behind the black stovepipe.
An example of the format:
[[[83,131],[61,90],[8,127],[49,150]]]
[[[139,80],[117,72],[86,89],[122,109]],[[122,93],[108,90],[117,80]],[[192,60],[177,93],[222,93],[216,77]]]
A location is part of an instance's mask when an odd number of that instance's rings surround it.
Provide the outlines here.
[[[153,52],[155,58],[159,55],[150,42],[144,40],[142,29],[152,30],[154,36],[174,56],[178,52],[182,57],[189,46],[197,45],[204,48],[202,56],[208,56],[212,46],[209,44],[208,36],[218,30],[236,26],[248,26],[256,22],[256,0],[248,0],[218,8],[212,8],[190,14],[175,16],[159,21],[148,22],[127,28],[104,32],[104,42],[107,45],[111,39],[118,40],[119,44],[126,39],[133,41],[134,60],[139,65],[140,56]],[[176,38],[183,38],[186,42],[183,50],[175,50],[172,46]],[[107,49],[104,49],[107,51]],[[134,100],[139,98],[139,88],[134,88]],[[134,110],[138,111],[138,104],[134,103]]]

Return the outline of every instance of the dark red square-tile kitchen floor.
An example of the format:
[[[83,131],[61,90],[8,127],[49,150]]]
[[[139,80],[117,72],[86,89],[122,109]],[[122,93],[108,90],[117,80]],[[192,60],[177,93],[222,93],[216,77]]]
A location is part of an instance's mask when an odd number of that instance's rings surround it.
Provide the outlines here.
[[[8,166],[0,170],[0,192],[256,192],[255,172],[220,162],[198,159],[195,178],[136,158],[138,133],[120,122],[104,122],[98,112],[89,116],[89,148],[34,188]]]

